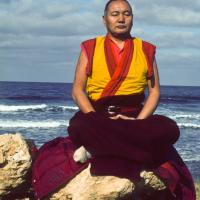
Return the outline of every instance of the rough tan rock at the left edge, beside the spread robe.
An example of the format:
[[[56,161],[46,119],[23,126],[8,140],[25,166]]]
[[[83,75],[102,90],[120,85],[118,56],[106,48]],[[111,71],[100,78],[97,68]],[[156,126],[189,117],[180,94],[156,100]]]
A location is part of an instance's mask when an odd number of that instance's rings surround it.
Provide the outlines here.
[[[0,199],[30,188],[31,163],[29,146],[19,133],[0,135]]]

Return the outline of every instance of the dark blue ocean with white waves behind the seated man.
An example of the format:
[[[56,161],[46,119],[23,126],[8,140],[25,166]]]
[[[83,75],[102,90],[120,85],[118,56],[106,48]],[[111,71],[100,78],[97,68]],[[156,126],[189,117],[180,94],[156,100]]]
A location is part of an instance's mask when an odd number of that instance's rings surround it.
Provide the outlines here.
[[[37,147],[66,136],[78,110],[71,83],[0,82],[0,134],[20,132]],[[175,144],[194,179],[200,179],[200,87],[161,86],[157,114],[174,119],[181,131]]]

